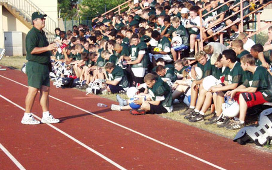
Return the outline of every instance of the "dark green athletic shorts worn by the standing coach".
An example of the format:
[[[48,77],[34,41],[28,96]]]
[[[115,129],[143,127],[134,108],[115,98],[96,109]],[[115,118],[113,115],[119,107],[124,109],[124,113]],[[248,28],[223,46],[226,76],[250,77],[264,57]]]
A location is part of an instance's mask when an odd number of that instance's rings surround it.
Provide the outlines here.
[[[50,86],[48,65],[28,61],[25,70],[28,86],[37,89],[40,89],[42,86]]]

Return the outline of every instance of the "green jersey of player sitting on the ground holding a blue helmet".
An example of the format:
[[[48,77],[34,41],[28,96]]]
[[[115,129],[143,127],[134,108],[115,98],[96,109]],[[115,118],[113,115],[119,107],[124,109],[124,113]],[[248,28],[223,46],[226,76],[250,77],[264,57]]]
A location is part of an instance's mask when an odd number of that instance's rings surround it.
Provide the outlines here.
[[[152,88],[148,87],[148,92],[153,101],[161,101],[160,105],[165,107],[168,112],[172,111],[172,90],[161,78],[156,80]]]

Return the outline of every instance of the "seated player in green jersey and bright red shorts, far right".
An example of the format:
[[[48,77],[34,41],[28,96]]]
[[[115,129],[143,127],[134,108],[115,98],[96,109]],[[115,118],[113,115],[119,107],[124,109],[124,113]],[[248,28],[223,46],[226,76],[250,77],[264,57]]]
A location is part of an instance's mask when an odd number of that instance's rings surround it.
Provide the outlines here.
[[[227,125],[227,129],[236,130],[244,127],[247,108],[272,101],[272,89],[268,80],[268,71],[262,66],[255,65],[255,58],[246,54],[241,57],[241,67],[244,71],[253,73],[253,78],[247,80],[247,84],[228,91],[226,95],[238,101],[240,106],[239,120]]]

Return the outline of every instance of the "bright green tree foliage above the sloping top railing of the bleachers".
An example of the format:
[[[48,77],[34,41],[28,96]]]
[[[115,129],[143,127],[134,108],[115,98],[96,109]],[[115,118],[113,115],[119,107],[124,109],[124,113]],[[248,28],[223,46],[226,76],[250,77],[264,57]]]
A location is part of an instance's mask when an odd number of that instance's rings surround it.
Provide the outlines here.
[[[126,0],[82,0],[82,6],[80,7],[82,18],[96,17],[105,12],[105,5],[107,10],[111,10],[125,1]]]

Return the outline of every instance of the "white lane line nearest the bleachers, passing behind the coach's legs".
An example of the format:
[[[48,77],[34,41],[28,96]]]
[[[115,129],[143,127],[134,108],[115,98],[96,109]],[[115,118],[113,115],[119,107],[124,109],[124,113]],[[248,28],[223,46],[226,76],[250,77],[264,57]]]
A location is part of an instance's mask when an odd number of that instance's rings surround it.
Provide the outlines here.
[[[7,77],[4,77],[4,76],[2,76],[2,75],[0,75],[0,77],[5,78],[5,79],[10,80],[10,81],[13,81],[14,83],[20,84],[20,85],[22,85],[22,86],[24,86],[24,87],[27,87],[27,86],[24,85],[24,84],[21,84],[21,83],[19,83],[19,82],[17,82],[17,81],[14,81],[14,80],[12,80],[12,79],[10,79],[10,78],[7,78]],[[28,87],[27,87],[27,88],[28,88]],[[66,101],[63,101],[63,100],[58,99],[58,98],[55,98],[55,97],[53,97],[53,96],[51,96],[51,95],[49,95],[49,97],[54,98],[55,100],[58,100],[58,101],[60,101],[60,102],[62,102],[62,103],[65,103],[65,104],[67,104],[67,105],[69,105],[69,106],[72,106],[72,107],[74,107],[74,108],[77,108],[77,109],[79,109],[79,110],[82,110],[83,112],[86,112],[86,113],[89,113],[89,114],[91,114],[91,115],[93,115],[93,116],[96,116],[96,117],[98,117],[98,118],[100,118],[100,119],[103,119],[103,120],[105,120],[105,121],[107,121],[107,122],[110,122],[110,123],[112,123],[112,124],[114,124],[114,125],[117,125],[117,126],[119,126],[119,127],[121,127],[121,128],[124,128],[124,129],[126,129],[126,130],[129,130],[129,131],[131,131],[131,132],[133,132],[133,133],[136,133],[136,134],[138,134],[138,135],[140,135],[140,136],[143,136],[143,137],[145,137],[145,138],[147,138],[147,139],[150,139],[150,140],[152,140],[152,141],[154,141],[154,142],[157,142],[157,143],[159,143],[159,144],[161,144],[161,145],[163,145],[163,146],[166,146],[166,147],[168,147],[168,148],[171,148],[171,149],[173,149],[173,150],[175,150],[175,151],[178,151],[178,152],[180,152],[180,153],[182,153],[182,154],[185,154],[185,155],[187,155],[187,156],[189,156],[189,157],[192,157],[192,158],[194,158],[194,159],[196,159],[196,160],[199,160],[199,161],[201,161],[201,162],[203,162],[203,163],[206,163],[206,164],[208,164],[208,165],[210,165],[210,166],[213,166],[213,167],[215,167],[215,168],[217,168],[217,169],[225,170],[224,168],[222,168],[222,167],[220,167],[220,166],[217,166],[217,165],[215,165],[215,164],[213,164],[213,163],[210,163],[209,161],[206,161],[206,160],[204,160],[204,159],[201,159],[201,158],[199,158],[199,157],[197,157],[197,156],[195,156],[195,155],[189,154],[189,153],[187,153],[187,152],[185,152],[185,151],[182,151],[182,150],[180,150],[180,149],[178,149],[178,148],[175,148],[174,146],[168,145],[168,144],[166,144],[166,143],[164,143],[164,142],[161,142],[161,141],[159,141],[159,140],[157,140],[157,139],[154,139],[154,138],[152,138],[152,137],[150,137],[150,136],[147,136],[147,135],[145,135],[145,134],[143,134],[143,133],[140,133],[140,132],[138,132],[138,131],[136,131],[136,130],[130,129],[130,128],[126,127],[126,126],[123,126],[123,125],[120,125],[120,124],[118,124],[118,123],[116,123],[116,122],[113,122],[113,121],[111,121],[111,120],[109,120],[109,119],[106,119],[106,118],[104,118],[104,117],[101,117],[101,116],[99,116],[99,115],[96,115],[96,114],[94,114],[94,113],[91,113],[91,112],[89,112],[88,110],[85,110],[85,109],[82,109],[82,108],[80,108],[80,107],[77,107],[77,106],[75,106],[75,105],[73,105],[73,104],[70,104],[70,103],[68,103],[68,102],[66,102]]]

